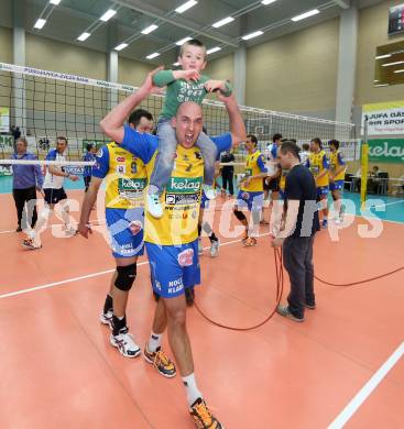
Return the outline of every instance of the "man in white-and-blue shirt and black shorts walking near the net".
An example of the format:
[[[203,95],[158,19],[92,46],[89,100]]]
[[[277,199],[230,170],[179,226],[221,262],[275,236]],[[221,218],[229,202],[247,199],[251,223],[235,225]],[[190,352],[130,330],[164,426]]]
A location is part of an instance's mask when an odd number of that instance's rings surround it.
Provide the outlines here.
[[[53,148],[46,155],[46,161],[66,161],[65,152],[67,150],[67,139],[65,136],[56,138],[56,148]],[[65,178],[73,182],[78,180],[78,176],[68,173],[67,167],[58,165],[48,165],[46,168],[46,176],[43,184],[43,191],[45,194],[45,207],[42,209],[35,230],[28,233],[28,239],[22,243],[24,248],[31,250],[37,250],[42,248],[41,233],[47,223],[48,218],[52,216],[55,205],[61,202],[62,207],[62,220],[64,223],[64,231],[67,237],[76,234],[76,230],[70,226],[69,206],[66,201],[67,195],[63,187]]]

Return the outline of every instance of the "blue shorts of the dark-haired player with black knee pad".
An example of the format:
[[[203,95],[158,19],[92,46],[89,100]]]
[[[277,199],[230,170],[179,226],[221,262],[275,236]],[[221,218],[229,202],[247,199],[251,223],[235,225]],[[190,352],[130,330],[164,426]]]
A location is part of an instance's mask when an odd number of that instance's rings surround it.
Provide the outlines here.
[[[107,208],[106,220],[113,257],[133,257],[144,253],[142,208]]]

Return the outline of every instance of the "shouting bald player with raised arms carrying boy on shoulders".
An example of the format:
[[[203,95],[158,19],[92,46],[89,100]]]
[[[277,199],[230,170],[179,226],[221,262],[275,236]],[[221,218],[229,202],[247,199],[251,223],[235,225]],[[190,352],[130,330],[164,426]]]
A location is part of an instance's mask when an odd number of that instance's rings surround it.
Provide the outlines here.
[[[123,127],[123,121],[154,89],[152,78],[155,73],[156,70],[151,72],[141,88],[118,105],[100,123],[102,131],[113,141],[121,143],[122,147],[130,150],[144,163],[152,164],[159,146],[157,138],[140,134]],[[220,94],[217,97],[226,106],[231,129],[231,134],[212,139],[220,153],[242,141],[245,128],[234,97],[226,98]],[[204,160],[194,145],[203,127],[201,107],[194,102],[181,105],[172,124],[178,144],[174,169],[163,194],[164,213],[161,219],[154,219],[148,211],[145,212],[145,245],[153,289],[161,299],[156,306],[152,337],[144,354],[148,359],[151,346],[160,346],[163,332],[167,328],[170,345],[183,378],[189,413],[196,426],[221,429],[222,426],[209,411],[195,381],[184,299],[184,289],[200,282],[197,223]]]

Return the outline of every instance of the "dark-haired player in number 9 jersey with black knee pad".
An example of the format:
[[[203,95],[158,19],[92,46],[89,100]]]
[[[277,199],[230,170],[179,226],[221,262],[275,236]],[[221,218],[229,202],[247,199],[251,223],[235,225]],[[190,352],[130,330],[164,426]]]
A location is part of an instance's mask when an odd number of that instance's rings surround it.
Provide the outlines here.
[[[153,117],[143,109],[132,112],[128,123],[140,133],[151,133],[153,130]],[[146,167],[142,160],[114,142],[102,146],[96,161],[83,202],[78,231],[86,239],[91,233],[88,224],[90,211],[105,179],[106,220],[117,271],[111,279],[100,321],[112,329],[110,343],[124,356],[137,358],[141,350],[129,333],[125,309],[129,292],[137,277],[138,257],[143,255],[143,190],[148,182]],[[163,351],[156,351],[154,360],[157,364],[165,362]]]

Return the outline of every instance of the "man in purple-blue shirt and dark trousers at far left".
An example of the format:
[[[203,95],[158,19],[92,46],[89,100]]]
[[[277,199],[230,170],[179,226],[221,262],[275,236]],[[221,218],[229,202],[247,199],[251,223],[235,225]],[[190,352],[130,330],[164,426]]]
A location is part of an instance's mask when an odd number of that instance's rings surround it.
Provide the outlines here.
[[[15,153],[11,158],[37,160],[34,154],[26,151],[26,140],[19,138],[15,141]],[[21,232],[23,229],[28,229],[29,224],[31,228],[35,227],[37,220],[36,190],[42,191],[43,174],[40,165],[13,165],[12,172],[12,196],[14,197],[18,219],[17,232]]]

